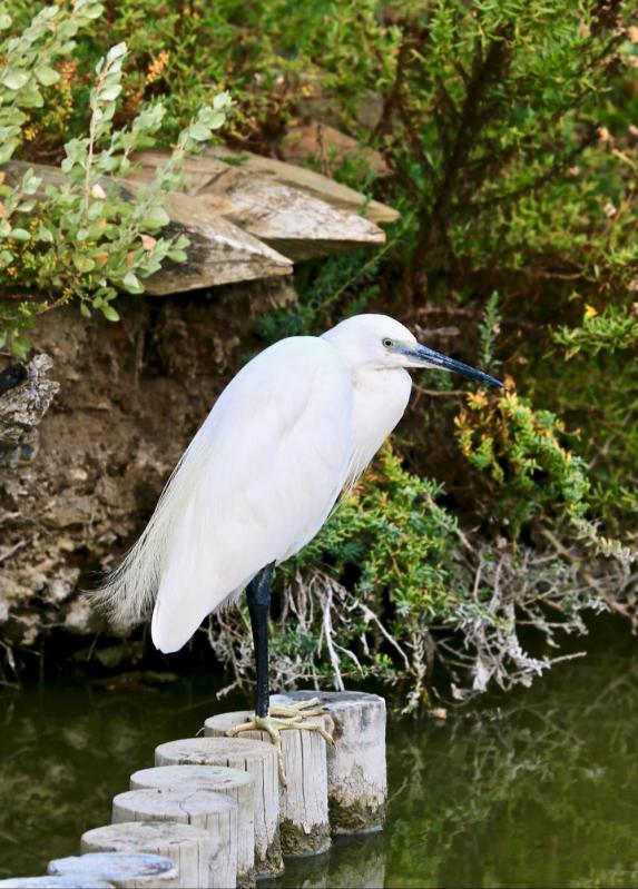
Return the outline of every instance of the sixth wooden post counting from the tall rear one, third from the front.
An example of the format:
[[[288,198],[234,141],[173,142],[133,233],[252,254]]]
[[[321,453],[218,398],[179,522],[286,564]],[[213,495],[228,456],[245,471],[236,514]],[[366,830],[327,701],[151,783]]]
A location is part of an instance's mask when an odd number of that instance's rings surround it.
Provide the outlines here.
[[[82,833],[82,852],[150,852],[170,858],[183,889],[208,887],[210,839],[194,824],[175,821],[124,821]]]

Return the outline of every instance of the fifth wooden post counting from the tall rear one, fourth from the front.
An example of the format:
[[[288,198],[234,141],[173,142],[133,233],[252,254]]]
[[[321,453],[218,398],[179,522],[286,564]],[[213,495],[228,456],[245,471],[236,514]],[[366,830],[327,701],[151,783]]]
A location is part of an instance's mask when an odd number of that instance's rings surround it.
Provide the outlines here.
[[[208,886],[237,881],[237,806],[208,790],[129,790],[112,801],[112,821],[180,821],[203,828],[210,840]]]

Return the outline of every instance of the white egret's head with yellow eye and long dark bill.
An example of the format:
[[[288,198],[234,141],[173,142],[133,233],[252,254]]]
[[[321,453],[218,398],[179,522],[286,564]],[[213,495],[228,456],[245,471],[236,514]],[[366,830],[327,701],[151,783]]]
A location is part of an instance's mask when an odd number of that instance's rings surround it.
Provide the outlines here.
[[[469,364],[422,346],[408,327],[387,315],[355,315],[325,333],[324,338],[334,343],[353,366],[367,365],[380,371],[400,367],[457,371],[470,379],[503,386],[495,377]]]

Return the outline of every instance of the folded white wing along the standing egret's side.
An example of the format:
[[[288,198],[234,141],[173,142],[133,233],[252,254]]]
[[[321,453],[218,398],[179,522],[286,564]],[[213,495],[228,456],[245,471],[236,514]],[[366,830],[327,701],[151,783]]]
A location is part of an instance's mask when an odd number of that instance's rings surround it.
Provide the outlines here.
[[[333,346],[293,337],[219,396],[159,508],[165,536],[153,639],[175,651],[262,567],[307,543],[353,452],[350,373]]]

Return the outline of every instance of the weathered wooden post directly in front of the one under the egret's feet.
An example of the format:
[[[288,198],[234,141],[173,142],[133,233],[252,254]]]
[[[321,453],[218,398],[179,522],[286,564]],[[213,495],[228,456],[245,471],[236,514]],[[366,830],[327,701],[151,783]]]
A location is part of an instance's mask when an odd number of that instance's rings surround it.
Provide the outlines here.
[[[160,744],[156,765],[228,765],[255,781],[255,871],[257,877],[282,873],[279,842],[279,777],[274,747],[244,738],[186,738]]]

